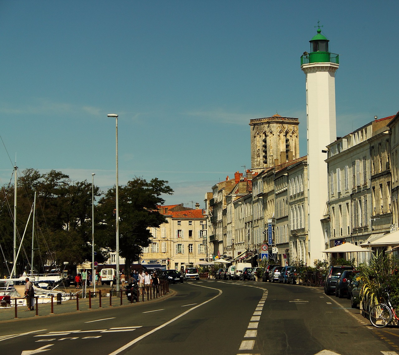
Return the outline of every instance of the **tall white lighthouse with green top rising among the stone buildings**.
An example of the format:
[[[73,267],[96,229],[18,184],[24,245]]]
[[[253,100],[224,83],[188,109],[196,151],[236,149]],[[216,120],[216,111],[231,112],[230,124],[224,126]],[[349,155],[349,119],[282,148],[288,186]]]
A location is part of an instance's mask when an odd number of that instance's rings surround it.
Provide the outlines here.
[[[328,243],[328,177],[326,146],[336,140],[335,73],[338,55],[328,50],[329,40],[320,26],[310,41],[310,53],[301,57],[306,74],[306,126],[308,146],[308,253],[310,263],[325,257]]]

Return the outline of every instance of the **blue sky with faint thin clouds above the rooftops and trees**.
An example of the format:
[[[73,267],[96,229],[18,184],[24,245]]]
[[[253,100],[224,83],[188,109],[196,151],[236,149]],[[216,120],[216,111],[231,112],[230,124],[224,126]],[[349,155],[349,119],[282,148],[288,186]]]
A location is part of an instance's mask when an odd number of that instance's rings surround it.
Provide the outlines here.
[[[337,135],[396,114],[397,1],[0,1],[0,183],[17,166],[106,190],[158,177],[167,204],[250,168],[249,120],[300,120],[300,56],[320,20],[336,75]],[[191,202],[193,201],[193,202]]]

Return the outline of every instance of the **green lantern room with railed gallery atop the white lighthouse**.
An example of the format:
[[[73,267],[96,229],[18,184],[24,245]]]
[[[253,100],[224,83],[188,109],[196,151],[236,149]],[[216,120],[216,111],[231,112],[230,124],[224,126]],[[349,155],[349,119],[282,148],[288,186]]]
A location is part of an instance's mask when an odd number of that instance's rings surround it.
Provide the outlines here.
[[[315,26],[316,27],[316,26]],[[327,37],[321,34],[320,26],[318,26],[317,34],[310,42],[310,53],[304,52],[301,56],[301,66],[303,64],[311,63],[336,63],[339,64],[338,54],[330,53],[328,51]]]

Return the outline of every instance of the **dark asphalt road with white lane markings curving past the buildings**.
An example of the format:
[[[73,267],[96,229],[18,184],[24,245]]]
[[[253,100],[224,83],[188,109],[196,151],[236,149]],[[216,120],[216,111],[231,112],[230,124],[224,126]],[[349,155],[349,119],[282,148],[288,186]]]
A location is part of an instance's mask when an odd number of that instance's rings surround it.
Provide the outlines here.
[[[200,280],[155,302],[0,322],[4,354],[399,354],[399,329],[376,329],[319,288]]]

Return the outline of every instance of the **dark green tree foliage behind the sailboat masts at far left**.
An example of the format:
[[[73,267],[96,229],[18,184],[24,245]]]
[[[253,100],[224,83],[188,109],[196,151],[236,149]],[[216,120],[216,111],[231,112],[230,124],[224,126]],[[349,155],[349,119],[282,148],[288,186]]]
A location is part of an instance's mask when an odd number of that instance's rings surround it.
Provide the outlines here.
[[[34,265],[43,272],[43,265],[59,267],[64,261],[76,264],[91,256],[91,183],[72,181],[62,172],[51,170],[40,174],[26,169],[17,182],[17,248],[32,209],[36,191]],[[101,191],[94,187],[95,196]],[[13,259],[14,186],[4,186],[0,197],[1,257],[10,265]],[[32,218],[26,229],[17,274],[26,268],[30,272],[32,251]],[[101,253],[98,254],[101,258]],[[100,260],[101,261],[101,260]],[[3,263],[2,263],[3,264]],[[2,274],[7,273],[3,270]]]

